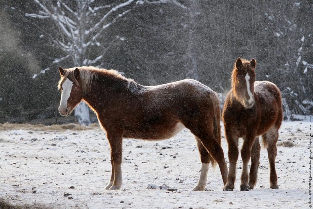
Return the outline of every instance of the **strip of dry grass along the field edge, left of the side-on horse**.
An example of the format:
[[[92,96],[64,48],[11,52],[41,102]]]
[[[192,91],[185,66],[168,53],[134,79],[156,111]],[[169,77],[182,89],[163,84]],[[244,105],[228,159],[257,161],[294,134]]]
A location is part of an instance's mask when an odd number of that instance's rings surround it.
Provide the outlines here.
[[[83,131],[83,130],[90,130],[90,129],[100,129],[100,126],[98,123],[93,123],[90,126],[84,126],[80,124],[75,123],[69,123],[69,124],[62,124],[62,125],[43,125],[43,124],[15,124],[15,123],[3,123],[0,124],[0,131],[6,131],[6,130],[32,130],[32,131],[64,131],[67,129],[73,130],[73,131]]]

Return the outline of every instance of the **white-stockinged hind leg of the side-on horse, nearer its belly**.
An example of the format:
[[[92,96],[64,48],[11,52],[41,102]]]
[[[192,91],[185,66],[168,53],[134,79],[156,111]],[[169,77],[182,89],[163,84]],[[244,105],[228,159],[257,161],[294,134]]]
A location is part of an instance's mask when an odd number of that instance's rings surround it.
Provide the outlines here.
[[[200,154],[200,160],[202,162],[200,177],[197,186],[193,189],[193,191],[204,191],[207,181],[207,172],[209,170],[209,163],[212,161],[211,155],[203,146],[201,140],[196,137],[196,143]]]

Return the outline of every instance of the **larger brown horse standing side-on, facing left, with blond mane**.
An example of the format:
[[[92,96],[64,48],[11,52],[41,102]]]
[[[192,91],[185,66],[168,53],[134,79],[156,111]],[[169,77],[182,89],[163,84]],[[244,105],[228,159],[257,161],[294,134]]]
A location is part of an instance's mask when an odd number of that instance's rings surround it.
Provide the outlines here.
[[[195,135],[202,162],[194,190],[205,189],[209,163],[219,164],[225,185],[228,169],[220,146],[219,99],[209,87],[191,79],[142,86],[115,70],[94,67],[59,67],[59,71],[60,114],[68,116],[84,101],[107,133],[112,173],[106,189],[120,189],[122,185],[123,138],[168,139],[184,127]]]

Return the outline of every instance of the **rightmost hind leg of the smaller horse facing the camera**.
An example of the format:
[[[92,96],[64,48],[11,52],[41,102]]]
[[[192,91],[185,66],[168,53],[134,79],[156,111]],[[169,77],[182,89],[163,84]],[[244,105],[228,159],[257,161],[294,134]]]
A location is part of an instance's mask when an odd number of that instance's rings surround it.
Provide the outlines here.
[[[263,144],[267,147],[268,161],[270,167],[270,188],[278,189],[277,173],[275,168],[275,158],[277,155],[277,143],[278,140],[278,129],[271,127],[265,134],[262,135]]]

